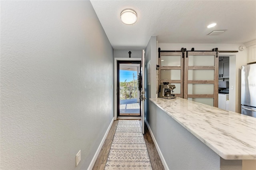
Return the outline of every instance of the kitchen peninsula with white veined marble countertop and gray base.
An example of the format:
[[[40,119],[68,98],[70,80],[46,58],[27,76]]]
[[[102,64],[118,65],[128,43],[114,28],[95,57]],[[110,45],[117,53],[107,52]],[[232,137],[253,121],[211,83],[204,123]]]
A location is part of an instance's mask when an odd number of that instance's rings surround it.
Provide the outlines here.
[[[179,97],[150,102],[146,121],[170,170],[256,168],[256,118]]]

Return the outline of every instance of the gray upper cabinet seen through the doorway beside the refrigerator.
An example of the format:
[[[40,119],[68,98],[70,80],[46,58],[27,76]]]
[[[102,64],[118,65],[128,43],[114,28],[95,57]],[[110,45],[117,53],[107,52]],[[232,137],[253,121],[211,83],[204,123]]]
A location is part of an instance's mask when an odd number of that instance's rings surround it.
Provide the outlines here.
[[[219,57],[219,79],[229,78],[229,57]]]

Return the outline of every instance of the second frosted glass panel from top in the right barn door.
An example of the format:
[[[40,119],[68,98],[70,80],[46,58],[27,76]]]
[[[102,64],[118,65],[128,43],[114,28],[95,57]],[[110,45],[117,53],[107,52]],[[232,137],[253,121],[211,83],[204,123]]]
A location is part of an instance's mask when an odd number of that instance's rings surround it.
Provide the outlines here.
[[[188,70],[188,80],[214,80],[214,70]]]

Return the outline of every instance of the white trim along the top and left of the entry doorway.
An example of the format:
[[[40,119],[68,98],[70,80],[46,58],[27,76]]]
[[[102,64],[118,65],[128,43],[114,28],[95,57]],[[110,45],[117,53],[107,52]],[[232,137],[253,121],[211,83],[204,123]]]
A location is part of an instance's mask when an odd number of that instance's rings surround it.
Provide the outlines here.
[[[117,61],[141,61],[141,58],[114,58],[114,120],[117,119]]]

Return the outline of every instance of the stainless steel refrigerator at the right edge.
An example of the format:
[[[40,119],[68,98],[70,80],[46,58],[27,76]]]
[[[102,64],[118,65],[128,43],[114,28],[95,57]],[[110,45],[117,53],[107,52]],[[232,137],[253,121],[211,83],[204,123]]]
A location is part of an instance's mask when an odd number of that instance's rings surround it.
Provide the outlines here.
[[[256,63],[241,67],[241,114],[256,117]]]

